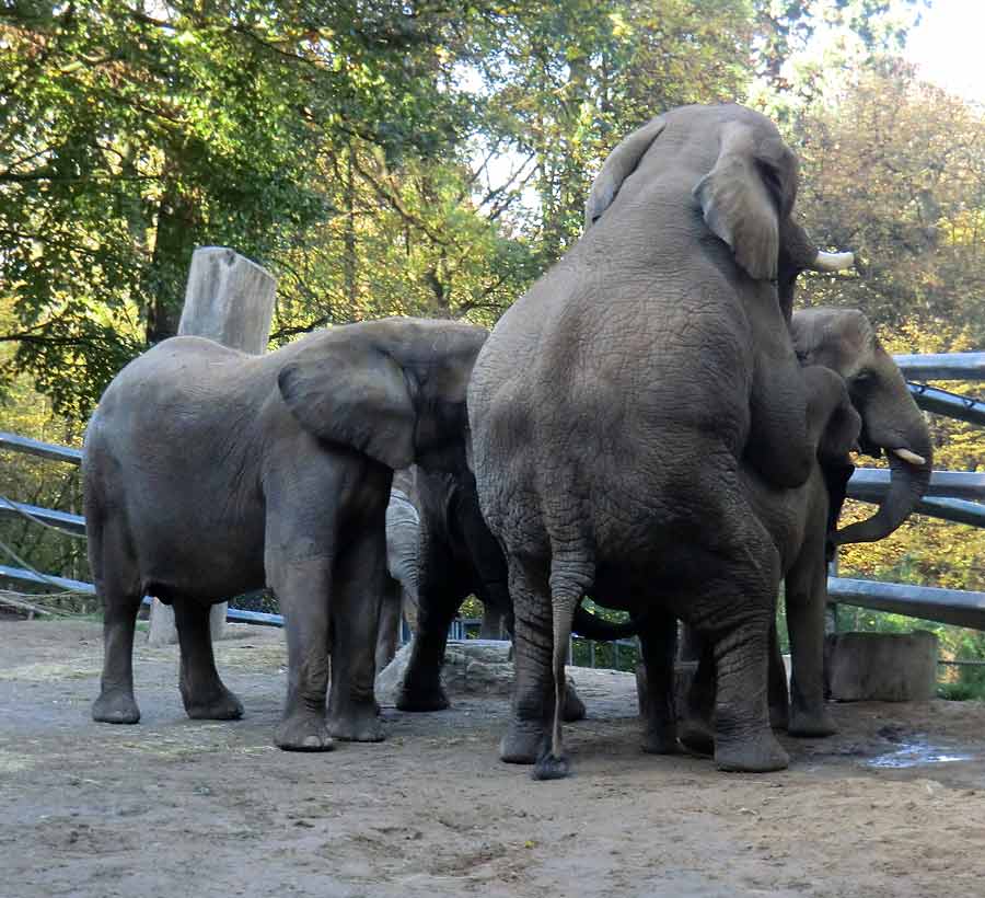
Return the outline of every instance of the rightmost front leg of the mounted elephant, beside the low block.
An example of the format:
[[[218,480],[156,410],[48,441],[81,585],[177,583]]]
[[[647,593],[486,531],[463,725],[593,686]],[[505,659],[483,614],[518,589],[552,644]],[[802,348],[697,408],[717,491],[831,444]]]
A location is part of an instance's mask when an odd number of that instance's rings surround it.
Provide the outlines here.
[[[807,554],[807,553],[806,553]],[[791,736],[832,736],[838,732],[824,703],[824,607],[827,571],[823,544],[813,557],[798,560],[787,575],[787,628],[790,632]]]

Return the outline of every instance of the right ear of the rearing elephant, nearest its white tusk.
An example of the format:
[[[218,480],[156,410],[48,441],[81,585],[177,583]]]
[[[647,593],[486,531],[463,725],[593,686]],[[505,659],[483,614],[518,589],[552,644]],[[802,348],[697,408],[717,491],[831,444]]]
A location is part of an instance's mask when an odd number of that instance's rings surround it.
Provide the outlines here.
[[[787,164],[780,164],[786,154]],[[705,221],[756,280],[774,280],[779,256],[779,216],[789,215],[796,173],[792,153],[776,138],[756,147],[753,129],[731,122],[721,135],[715,166],[695,186]]]

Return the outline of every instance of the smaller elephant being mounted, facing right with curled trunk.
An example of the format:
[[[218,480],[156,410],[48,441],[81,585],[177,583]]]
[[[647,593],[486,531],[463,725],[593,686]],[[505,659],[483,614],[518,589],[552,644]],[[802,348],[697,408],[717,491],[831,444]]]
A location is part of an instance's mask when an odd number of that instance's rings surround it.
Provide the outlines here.
[[[769,530],[780,553],[786,578],[787,625],[790,634],[791,681],[788,732],[791,736],[828,736],[836,732],[824,705],[824,608],[827,602],[828,546],[836,543],[882,539],[908,517],[927,490],[932,465],[930,435],[906,381],[882,348],[868,319],[847,309],[808,309],[791,324],[798,357],[822,365],[841,377],[854,414],[828,422],[808,482],[796,490],[776,490],[753,469],[743,468],[750,503]],[[856,417],[857,415],[857,417]],[[866,521],[835,532],[854,468],[841,450],[851,441],[860,422],[859,445],[872,456],[890,460],[892,482],[880,509]],[[893,450],[923,458],[924,463],[901,459]],[[770,668],[770,704],[775,723],[784,723],[786,678],[774,637]],[[688,714],[681,727],[682,741],[699,751],[711,748],[715,676],[708,647],[688,699]],[[665,659],[672,665],[672,659]],[[776,675],[776,678],[773,675]]]

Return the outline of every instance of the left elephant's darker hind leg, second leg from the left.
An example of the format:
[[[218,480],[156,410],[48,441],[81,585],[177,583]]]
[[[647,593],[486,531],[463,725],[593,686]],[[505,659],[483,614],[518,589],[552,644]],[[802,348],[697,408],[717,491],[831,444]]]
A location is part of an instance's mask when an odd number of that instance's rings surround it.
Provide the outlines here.
[[[178,689],[185,712],[195,721],[240,719],[243,704],[225,688],[216,670],[210,607],[184,597],[176,597],[173,607],[182,649]]]

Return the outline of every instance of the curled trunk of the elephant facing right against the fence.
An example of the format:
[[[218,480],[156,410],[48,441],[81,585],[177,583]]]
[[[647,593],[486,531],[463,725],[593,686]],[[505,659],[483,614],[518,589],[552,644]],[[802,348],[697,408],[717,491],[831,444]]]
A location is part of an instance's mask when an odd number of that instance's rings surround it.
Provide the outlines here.
[[[930,482],[934,464],[930,435],[916,405],[913,414],[907,415],[905,428],[894,427],[891,434],[880,433],[880,428],[870,426],[871,422],[865,415],[862,417],[866,421],[862,446],[874,444],[885,451],[892,472],[890,487],[872,517],[837,532],[835,542],[838,544],[874,542],[888,537],[909,517]]]

